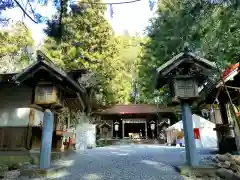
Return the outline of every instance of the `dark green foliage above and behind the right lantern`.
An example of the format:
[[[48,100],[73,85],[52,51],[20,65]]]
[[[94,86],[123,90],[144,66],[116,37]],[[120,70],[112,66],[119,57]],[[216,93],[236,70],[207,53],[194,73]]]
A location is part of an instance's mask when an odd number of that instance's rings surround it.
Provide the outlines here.
[[[139,63],[142,101],[151,102],[155,96],[153,88],[149,88],[153,87],[153,70],[182,52],[186,45],[191,52],[217,62],[220,68],[237,62],[239,17],[240,8],[231,1],[159,1],[157,17],[146,29],[148,38]]]

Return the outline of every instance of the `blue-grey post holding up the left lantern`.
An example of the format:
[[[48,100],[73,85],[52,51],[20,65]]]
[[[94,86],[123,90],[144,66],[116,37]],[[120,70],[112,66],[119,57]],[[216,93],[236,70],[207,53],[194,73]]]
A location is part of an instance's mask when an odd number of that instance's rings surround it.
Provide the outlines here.
[[[53,113],[46,109],[43,116],[42,143],[40,150],[40,169],[50,168],[53,134]]]

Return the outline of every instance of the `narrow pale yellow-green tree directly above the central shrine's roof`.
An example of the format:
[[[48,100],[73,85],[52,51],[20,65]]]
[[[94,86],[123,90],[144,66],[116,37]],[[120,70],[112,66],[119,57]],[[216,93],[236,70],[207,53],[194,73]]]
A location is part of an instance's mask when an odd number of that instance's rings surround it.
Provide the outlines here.
[[[140,42],[142,39],[138,36],[130,36],[127,32],[118,37],[119,55],[117,60],[120,62],[119,73],[113,79],[115,92],[119,103],[128,103],[134,101],[135,83],[137,83],[137,64],[140,53]],[[136,87],[137,88],[137,87]],[[136,94],[137,96],[138,94]]]

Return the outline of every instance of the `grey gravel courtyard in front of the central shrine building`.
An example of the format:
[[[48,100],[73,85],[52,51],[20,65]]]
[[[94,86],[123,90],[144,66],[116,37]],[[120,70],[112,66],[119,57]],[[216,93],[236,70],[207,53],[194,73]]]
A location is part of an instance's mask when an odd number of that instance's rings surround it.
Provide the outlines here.
[[[200,152],[204,164],[209,156],[205,151]],[[172,165],[184,164],[185,152],[183,148],[159,145],[120,145],[85,150],[56,163],[69,167],[51,179],[183,180]],[[7,179],[27,179],[17,177],[18,171],[14,173]]]

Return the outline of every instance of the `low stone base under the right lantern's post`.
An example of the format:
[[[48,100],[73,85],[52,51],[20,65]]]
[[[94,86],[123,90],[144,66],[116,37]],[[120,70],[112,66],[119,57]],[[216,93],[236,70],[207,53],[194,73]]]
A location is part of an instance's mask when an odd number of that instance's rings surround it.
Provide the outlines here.
[[[212,166],[178,166],[175,168],[181,175],[196,177],[216,177],[217,171],[217,168]]]

